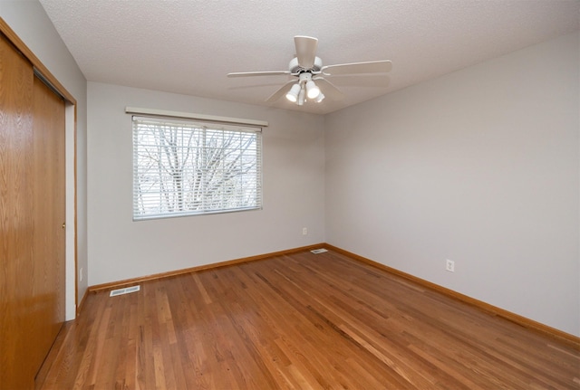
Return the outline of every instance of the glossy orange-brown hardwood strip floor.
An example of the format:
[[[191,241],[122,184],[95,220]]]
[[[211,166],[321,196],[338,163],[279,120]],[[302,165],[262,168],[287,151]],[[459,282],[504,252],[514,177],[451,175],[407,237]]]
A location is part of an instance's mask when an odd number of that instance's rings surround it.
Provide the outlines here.
[[[342,254],[91,294],[43,389],[578,389],[580,352]]]

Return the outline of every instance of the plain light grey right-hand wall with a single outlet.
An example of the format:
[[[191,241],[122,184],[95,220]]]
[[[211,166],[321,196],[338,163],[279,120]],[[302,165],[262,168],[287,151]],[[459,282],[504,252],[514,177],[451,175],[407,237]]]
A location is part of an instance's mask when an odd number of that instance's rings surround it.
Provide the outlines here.
[[[326,241],[580,336],[578,48],[566,35],[328,115]]]

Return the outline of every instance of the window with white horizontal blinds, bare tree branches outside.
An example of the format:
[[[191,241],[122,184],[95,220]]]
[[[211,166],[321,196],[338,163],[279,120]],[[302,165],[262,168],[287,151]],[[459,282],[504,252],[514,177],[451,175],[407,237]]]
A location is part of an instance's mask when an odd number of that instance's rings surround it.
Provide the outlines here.
[[[262,207],[261,128],[133,117],[133,220]]]

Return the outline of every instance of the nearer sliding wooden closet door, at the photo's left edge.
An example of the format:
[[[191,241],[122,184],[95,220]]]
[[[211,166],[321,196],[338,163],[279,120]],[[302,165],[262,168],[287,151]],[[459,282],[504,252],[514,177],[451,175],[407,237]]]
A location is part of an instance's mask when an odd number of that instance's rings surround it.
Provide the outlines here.
[[[0,42],[0,388],[30,387],[27,319],[33,305],[32,66]]]

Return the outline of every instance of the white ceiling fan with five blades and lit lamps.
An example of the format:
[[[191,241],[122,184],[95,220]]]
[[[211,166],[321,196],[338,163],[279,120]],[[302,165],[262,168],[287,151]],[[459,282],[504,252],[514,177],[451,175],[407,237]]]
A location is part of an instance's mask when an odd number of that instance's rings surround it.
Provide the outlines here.
[[[247,76],[294,76],[297,80],[286,82],[266,101],[275,101],[285,95],[287,100],[302,106],[305,101],[321,102],[325,95],[332,100],[343,99],[343,92],[336,88],[325,77],[347,74],[386,73],[391,71],[391,61],[353,62],[323,66],[323,61],[316,57],[318,40],[304,35],[294,37],[296,56],[288,64],[287,71],[238,71],[227,73],[227,77]],[[323,93],[324,90],[324,93]]]

